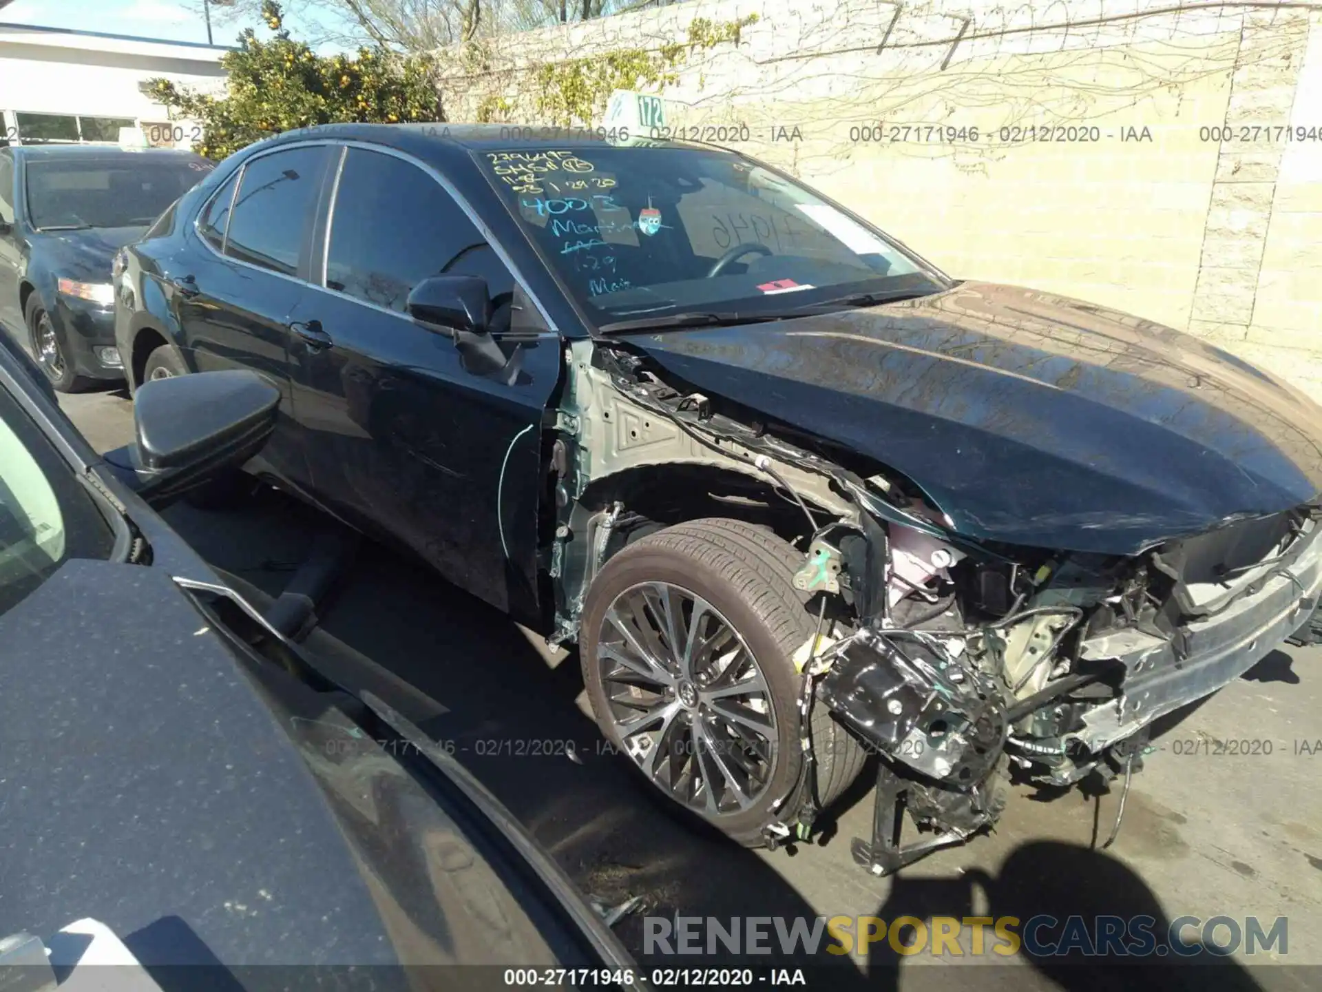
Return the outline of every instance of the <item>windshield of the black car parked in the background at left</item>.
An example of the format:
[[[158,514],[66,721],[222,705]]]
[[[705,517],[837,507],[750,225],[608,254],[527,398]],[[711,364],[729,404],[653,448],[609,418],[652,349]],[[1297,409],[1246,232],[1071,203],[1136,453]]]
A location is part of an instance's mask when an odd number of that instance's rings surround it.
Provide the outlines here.
[[[29,160],[24,168],[33,227],[137,227],[155,221],[208,172],[200,159]]]

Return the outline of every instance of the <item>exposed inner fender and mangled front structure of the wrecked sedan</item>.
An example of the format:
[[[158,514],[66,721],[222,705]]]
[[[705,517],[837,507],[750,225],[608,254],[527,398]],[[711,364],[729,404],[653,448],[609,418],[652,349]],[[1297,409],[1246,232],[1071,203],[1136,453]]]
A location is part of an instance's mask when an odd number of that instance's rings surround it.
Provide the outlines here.
[[[854,844],[874,873],[992,827],[1011,776],[1062,787],[1122,774],[1128,790],[1154,720],[1241,675],[1317,608],[1315,505],[1129,557],[980,542],[911,480],[865,475],[625,351],[572,348],[551,459],[557,639],[574,636],[612,534],[636,516],[603,481],[689,464],[772,489],[797,515],[793,585],[818,615],[796,659],[805,700],[883,759],[873,837]],[[816,812],[768,841],[810,833]],[[903,813],[917,840],[903,841]]]

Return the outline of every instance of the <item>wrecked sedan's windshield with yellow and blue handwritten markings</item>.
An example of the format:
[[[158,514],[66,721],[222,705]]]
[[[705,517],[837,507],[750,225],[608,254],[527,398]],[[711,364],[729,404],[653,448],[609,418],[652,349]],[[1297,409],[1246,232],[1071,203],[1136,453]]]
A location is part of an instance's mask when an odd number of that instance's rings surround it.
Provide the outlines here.
[[[875,229],[736,155],[602,145],[475,156],[598,324],[948,288]]]

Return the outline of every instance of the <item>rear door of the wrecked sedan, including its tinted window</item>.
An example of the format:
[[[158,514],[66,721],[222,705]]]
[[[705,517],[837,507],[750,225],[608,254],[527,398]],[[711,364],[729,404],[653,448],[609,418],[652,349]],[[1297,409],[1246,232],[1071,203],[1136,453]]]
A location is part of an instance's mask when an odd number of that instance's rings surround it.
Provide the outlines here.
[[[200,250],[165,279],[198,372],[253,369],[280,390],[280,417],[260,460],[299,488],[309,483],[290,394],[290,313],[308,291],[312,225],[325,144],[249,159],[204,206]]]

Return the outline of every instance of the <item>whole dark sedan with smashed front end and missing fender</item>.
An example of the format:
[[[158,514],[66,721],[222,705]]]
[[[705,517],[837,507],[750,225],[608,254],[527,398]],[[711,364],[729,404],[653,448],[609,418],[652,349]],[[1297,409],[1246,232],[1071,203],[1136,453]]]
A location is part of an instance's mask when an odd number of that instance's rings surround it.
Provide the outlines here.
[[[1322,587],[1310,399],[734,152],[313,128],[116,272],[132,385],[263,372],[250,472],[576,641],[605,737],[746,844],[810,836],[869,750],[878,873],[1014,768],[1128,782]]]

